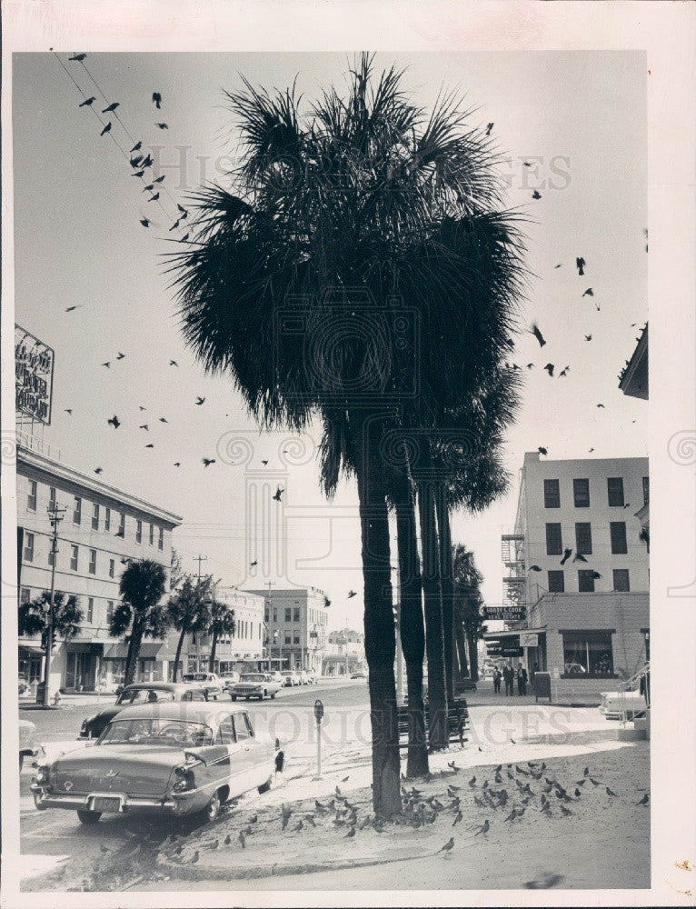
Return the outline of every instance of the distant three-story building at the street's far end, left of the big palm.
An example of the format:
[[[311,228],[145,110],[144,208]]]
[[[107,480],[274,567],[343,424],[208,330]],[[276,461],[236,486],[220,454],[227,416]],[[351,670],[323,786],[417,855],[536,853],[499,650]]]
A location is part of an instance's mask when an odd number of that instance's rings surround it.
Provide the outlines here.
[[[273,669],[320,674],[326,645],[329,600],[316,587],[252,590],[263,596],[267,625],[265,657]]]

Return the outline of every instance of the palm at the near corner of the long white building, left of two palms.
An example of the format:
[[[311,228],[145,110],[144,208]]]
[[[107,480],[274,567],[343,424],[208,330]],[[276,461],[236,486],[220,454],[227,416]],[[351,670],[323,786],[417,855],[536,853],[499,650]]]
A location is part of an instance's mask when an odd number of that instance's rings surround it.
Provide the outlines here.
[[[162,637],[169,618],[160,601],[164,596],[166,572],[150,559],[130,561],[121,575],[118,590],[121,603],[114,609],[111,634],[124,635],[128,644],[124,684],[132,684],[144,637]]]

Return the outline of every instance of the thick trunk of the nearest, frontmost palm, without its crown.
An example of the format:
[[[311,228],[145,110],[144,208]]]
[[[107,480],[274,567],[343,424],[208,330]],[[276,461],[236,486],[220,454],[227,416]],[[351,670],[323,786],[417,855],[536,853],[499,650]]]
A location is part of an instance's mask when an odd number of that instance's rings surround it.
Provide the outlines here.
[[[380,817],[401,814],[399,728],[394,658],[396,635],[392,604],[389,514],[379,456],[381,426],[360,415],[355,473],[360,501],[364,582],[365,656],[369,668],[373,733],[373,809]]]

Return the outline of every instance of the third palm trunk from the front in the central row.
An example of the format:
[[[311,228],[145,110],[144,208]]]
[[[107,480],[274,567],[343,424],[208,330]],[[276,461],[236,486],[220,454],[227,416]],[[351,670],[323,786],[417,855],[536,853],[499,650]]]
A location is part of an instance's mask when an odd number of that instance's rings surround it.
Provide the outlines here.
[[[428,742],[433,751],[447,747],[447,688],[444,677],[442,588],[435,527],[435,502],[433,484],[427,481],[419,484],[418,511],[423,550],[425,653],[428,658]]]

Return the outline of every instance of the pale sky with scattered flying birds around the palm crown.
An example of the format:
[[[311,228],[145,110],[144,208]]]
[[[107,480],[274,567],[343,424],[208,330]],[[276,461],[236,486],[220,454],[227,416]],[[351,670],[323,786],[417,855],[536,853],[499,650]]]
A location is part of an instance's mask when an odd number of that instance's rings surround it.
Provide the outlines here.
[[[61,449],[66,464],[87,474],[101,467],[105,483],[182,515],[174,546],[186,569],[196,570],[194,556],[202,554],[204,571],[224,584],[312,584],[332,600],[330,628],[360,627],[354,483],[343,483],[327,503],[313,458],[318,433],[297,440],[303,454],[295,456],[288,434],[259,434],[228,378],[204,375],[184,348],[165,274],[165,254],[182,236],[169,229],[176,204],[186,205],[203,183],[227,185],[238,135],[224,90],[239,89],[243,76],[269,89],[297,77],[309,102],[323,86],[344,84],[353,55],[90,54],[86,70],[67,57],[15,55],[13,68],[15,321],[55,349],[45,442]],[[514,523],[524,452],[542,445],[552,458],[647,454],[647,407],[618,388],[648,319],[645,57],[375,58],[378,68],[393,63],[406,67],[404,85],[417,104],[432,108],[444,87],[472,108],[472,125],[493,124],[506,162],[506,205],[529,218],[532,276],[520,318],[526,329],[536,322],[547,344],[541,350],[527,331],[516,346],[514,362],[534,368],[523,370],[522,406],[507,436],[510,491],[483,514],[457,513],[452,522],[453,541],[476,555],[486,602],[500,603],[500,537]],[[160,110],[153,92],[162,95]],[[78,106],[92,95],[92,109]],[[93,110],[114,101],[119,119],[100,113],[112,122],[100,136]],[[138,140],[154,158],[154,175],[165,175],[157,202],[146,201],[121,150]],[[541,199],[532,199],[534,189]],[[144,217],[148,228],[139,223]],[[586,262],[582,277],[576,256]],[[588,287],[592,297],[583,296]],[[77,308],[66,313],[69,306]],[[542,368],[548,362],[556,365],[553,378]],[[568,374],[559,377],[565,366]],[[195,404],[198,396],[203,405]],[[113,415],[118,430],[107,423]],[[245,464],[236,457],[238,439],[249,454]],[[203,457],[215,464],[204,467]],[[284,578],[271,554],[249,544],[247,490],[264,469],[267,489],[285,489]],[[254,555],[259,565],[251,574]],[[349,590],[357,595],[349,599]]]

